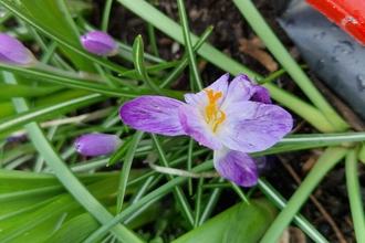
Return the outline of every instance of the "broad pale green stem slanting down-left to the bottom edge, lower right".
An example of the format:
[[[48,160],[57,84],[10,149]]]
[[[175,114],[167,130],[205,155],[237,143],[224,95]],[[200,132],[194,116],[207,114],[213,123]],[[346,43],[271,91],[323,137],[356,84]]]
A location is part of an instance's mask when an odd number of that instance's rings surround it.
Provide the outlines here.
[[[301,207],[310,197],[314,188],[320,183],[322,178],[340,162],[346,155],[347,149],[342,147],[328,147],[311,172],[303,180],[302,184],[296,189],[292,198],[289,200],[286,208],[284,208],[275,221],[271,224],[267,233],[261,239],[262,243],[277,242],[282,232],[288,228],[294,215],[299,212]]]

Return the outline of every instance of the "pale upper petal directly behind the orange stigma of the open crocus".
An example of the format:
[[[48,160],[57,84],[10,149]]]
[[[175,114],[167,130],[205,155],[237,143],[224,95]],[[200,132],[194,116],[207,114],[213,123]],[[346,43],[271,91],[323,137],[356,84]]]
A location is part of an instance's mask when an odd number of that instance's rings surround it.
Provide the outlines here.
[[[225,74],[219,77],[215,83],[206,87],[205,89],[212,89],[215,93],[221,92],[222,98],[218,99],[216,104],[219,106],[223,102],[223,96],[228,89],[228,78],[229,74]],[[205,91],[200,91],[197,94],[186,94],[184,98],[187,104],[197,107],[200,110],[205,110],[206,106],[209,104],[209,99],[207,93]]]

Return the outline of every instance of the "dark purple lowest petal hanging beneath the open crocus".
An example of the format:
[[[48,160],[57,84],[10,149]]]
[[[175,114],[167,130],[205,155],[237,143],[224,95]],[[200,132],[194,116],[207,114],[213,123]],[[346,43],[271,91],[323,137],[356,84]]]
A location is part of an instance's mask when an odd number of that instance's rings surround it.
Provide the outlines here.
[[[252,187],[258,183],[255,165],[246,152],[227,148],[215,150],[213,162],[216,170],[222,177],[239,186]]]

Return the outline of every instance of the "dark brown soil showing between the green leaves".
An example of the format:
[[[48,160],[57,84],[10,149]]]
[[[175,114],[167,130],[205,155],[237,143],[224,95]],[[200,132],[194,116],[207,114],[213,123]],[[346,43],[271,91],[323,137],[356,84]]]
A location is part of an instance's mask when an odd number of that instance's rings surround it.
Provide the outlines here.
[[[100,27],[104,1],[93,0],[92,2],[95,4],[95,10],[90,18],[95,27]],[[155,7],[160,11],[165,12],[175,21],[179,21],[176,1],[159,0],[154,2],[156,2]],[[295,46],[277,23],[270,0],[255,0],[254,2],[259,11],[267,19],[268,23],[278,34],[279,39],[283,42],[286,49],[290,51],[295,50]],[[189,28],[194,33],[200,35],[208,27],[213,25],[215,31],[209,38],[209,43],[226,54],[230,55],[234,60],[239,61],[243,65],[248,66],[249,68],[252,68],[254,72],[263,76],[268,76],[270,74],[270,71],[268,71],[257,59],[239,51],[239,40],[242,38],[250,40],[255,36],[255,33],[242,18],[241,13],[238,11],[232,1],[187,0],[185,1],[185,4],[190,21]],[[150,50],[147,41],[147,23],[140,18],[136,17],[134,13],[123,8],[119,3],[113,4],[108,33],[131,45],[133,44],[135,38],[138,34],[142,34],[146,42],[146,51],[148,52]],[[166,36],[158,30],[156,30],[156,38],[159,54],[163,59],[171,61],[180,59],[184,55],[184,46],[180,46],[176,52],[171,52],[171,50],[174,50],[173,45],[176,45],[177,43],[175,43],[174,40]],[[300,57],[298,60],[301,62]],[[188,73],[182,74],[182,76],[179,77],[179,88],[188,88],[187,74]],[[211,64],[207,64],[204,68],[201,68],[201,77],[206,85],[212,83],[222,74],[223,73],[221,70],[215,67]],[[288,88],[295,95],[303,97],[301,91],[295,86],[289,76],[281,76],[280,83],[284,88]],[[300,124],[300,122],[302,122],[302,119],[296,118],[295,125]],[[315,130],[311,126],[304,125],[298,133],[315,133]],[[295,173],[303,180],[305,173],[311,168],[311,159],[315,160],[315,158],[317,158],[321,152],[321,149],[310,151],[305,150],[285,154],[282,155],[282,157],[293,168]],[[306,167],[309,167],[309,169]],[[362,170],[362,176],[364,180],[364,170]],[[270,171],[270,173],[267,175],[267,179],[286,199],[290,199],[292,193],[298,188],[295,180],[279,160],[277,160],[275,167]],[[332,170],[332,172],[326,176],[326,178],[323,180],[316,191],[313,192],[313,194],[323,204],[324,209],[335,221],[345,240],[348,242],[355,242],[346,191],[344,166],[340,163]],[[331,225],[310,200],[302,208],[301,213],[313,225],[315,225],[326,239],[328,239],[331,242],[338,242],[338,239],[334,234]],[[311,242],[310,240],[306,241]]]

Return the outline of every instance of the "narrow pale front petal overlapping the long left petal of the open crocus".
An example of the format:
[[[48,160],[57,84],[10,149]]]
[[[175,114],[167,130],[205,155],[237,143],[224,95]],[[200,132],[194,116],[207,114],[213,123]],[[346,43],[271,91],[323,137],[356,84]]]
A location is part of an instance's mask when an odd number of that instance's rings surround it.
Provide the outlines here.
[[[191,136],[199,145],[210,149],[221,149],[222,144],[211,131],[200,112],[187,104],[179,106],[179,120],[185,133]]]

